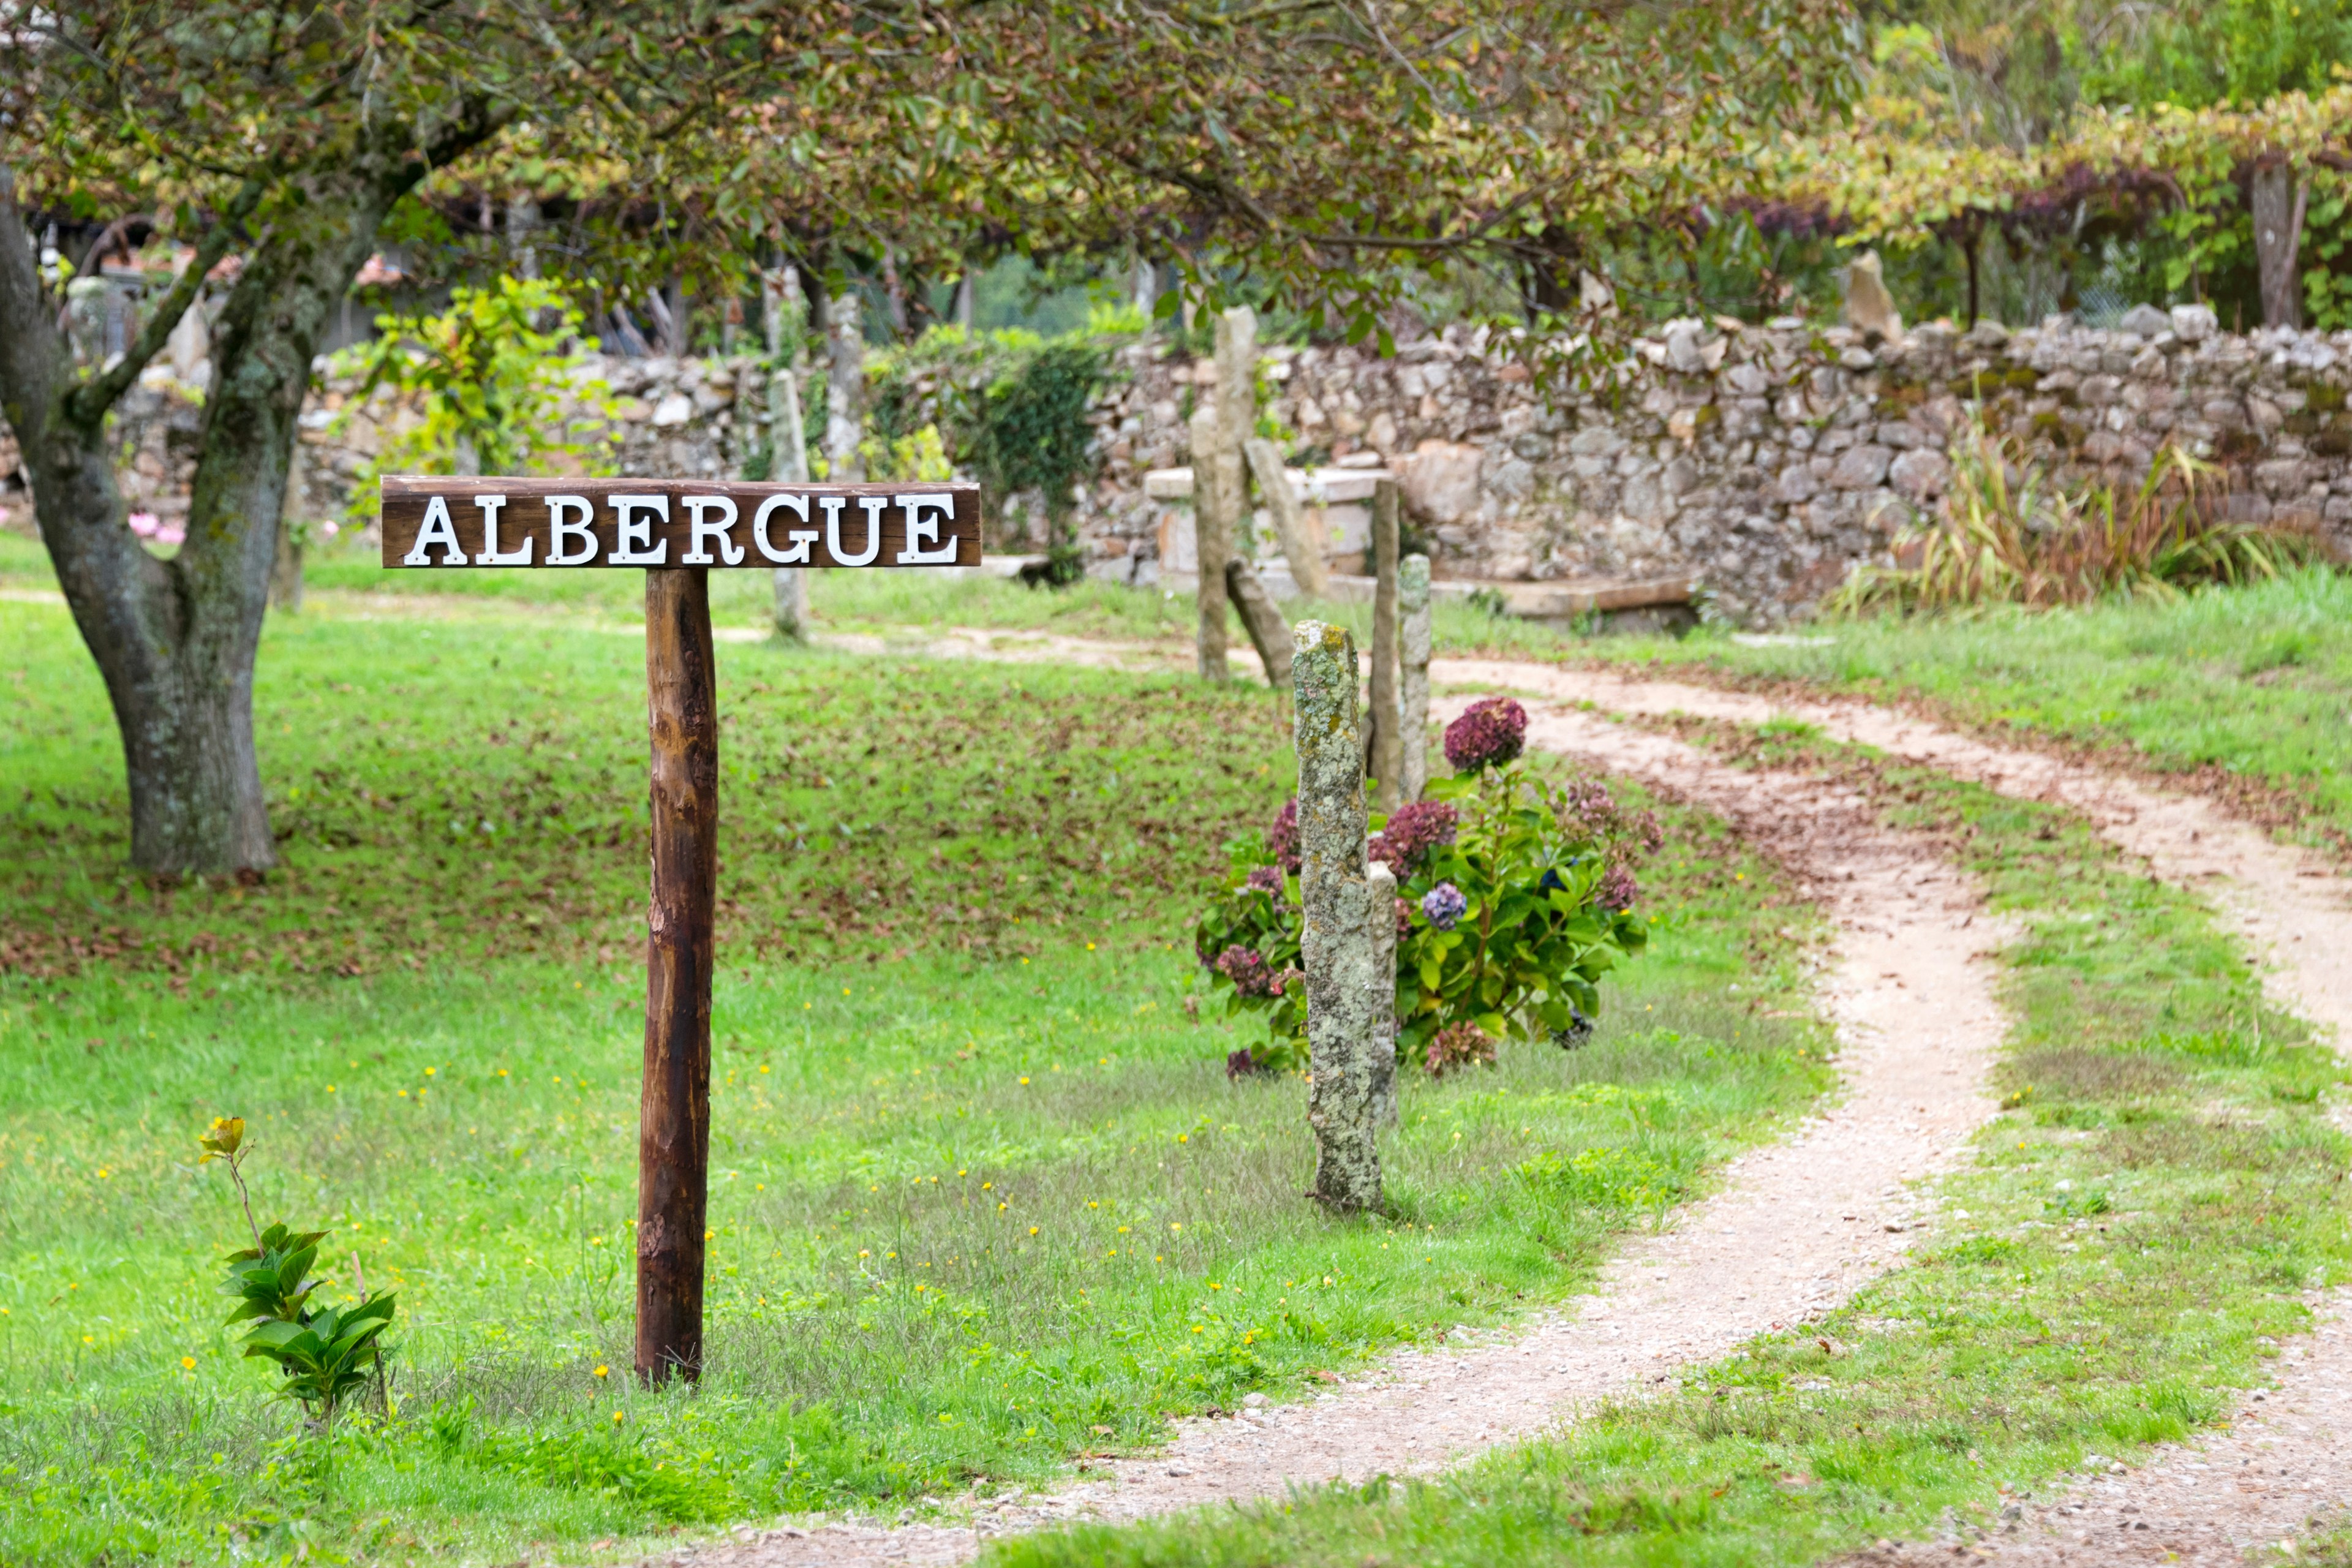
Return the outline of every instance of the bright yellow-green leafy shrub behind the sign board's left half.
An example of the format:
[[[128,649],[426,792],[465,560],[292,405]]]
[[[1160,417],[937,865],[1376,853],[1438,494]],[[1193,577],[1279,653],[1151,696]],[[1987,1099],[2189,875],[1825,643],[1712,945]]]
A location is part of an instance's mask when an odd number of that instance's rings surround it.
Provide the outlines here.
[[[423,418],[386,433],[350,491],[353,522],[374,520],[388,473],[612,473],[619,407],[602,381],[574,378],[583,327],[572,296],[539,277],[452,289],[440,315],[379,315],[381,336],[346,357],[360,374],[350,409],[388,386],[416,397]],[[567,400],[581,425],[564,418]]]

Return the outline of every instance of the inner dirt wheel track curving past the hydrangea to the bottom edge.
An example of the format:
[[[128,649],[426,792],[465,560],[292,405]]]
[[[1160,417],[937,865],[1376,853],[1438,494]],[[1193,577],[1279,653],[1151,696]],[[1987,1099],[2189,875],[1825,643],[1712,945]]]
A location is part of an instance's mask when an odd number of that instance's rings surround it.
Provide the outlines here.
[[[2004,1025],[1983,954],[1997,933],[1978,914],[1976,889],[1837,785],[1743,773],[1581,712],[1541,712],[1529,741],[1722,811],[1825,903],[1839,931],[1825,985],[1842,1037],[1837,1105],[1785,1143],[1731,1161],[1717,1197],[1675,1229],[1628,1244],[1592,1295],[1519,1338],[1402,1352],[1312,1403],[1181,1422],[1164,1453],[1098,1462],[1051,1495],[976,1505],[962,1526],[835,1521],[743,1533],[694,1561],[953,1563],[985,1535],[1070,1519],[1141,1519],[1279,1495],[1294,1481],[1435,1472],[1820,1314],[1900,1262],[1931,1222],[1910,1185],[1950,1166],[1992,1112],[1985,1067]]]

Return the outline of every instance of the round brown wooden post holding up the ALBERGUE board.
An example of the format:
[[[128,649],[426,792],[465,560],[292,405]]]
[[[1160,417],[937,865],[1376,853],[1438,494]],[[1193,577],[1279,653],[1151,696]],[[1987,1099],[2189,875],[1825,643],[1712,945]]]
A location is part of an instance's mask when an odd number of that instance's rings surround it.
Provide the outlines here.
[[[644,574],[654,743],[644,1088],[637,1112],[637,1378],[703,1371],[710,1197],[710,964],[720,827],[717,668],[701,567]]]

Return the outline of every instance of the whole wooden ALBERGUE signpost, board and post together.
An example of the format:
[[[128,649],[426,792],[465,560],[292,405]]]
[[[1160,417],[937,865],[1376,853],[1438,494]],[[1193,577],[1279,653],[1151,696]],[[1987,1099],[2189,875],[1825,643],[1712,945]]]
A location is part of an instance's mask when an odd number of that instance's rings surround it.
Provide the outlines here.
[[[720,712],[713,567],[978,567],[971,484],[383,480],[383,564],[644,567],[654,743],[644,1086],[637,1112],[637,1375],[703,1366],[710,966]]]

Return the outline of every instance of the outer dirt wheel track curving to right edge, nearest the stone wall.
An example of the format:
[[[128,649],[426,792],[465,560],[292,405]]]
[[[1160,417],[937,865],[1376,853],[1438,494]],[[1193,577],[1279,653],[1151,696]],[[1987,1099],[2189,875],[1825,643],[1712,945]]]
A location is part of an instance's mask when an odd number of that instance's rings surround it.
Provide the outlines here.
[[[2063,802],[2110,842],[2147,860],[2178,886],[2197,889],[2253,943],[2274,994],[2352,1046],[2352,898],[2319,856],[2277,844],[2199,795],[2169,795],[2079,762],[1994,745],[1860,701],[1790,703],[1613,670],[1559,670],[1482,658],[1439,658],[1439,684],[1512,689],[1606,712],[1656,717],[1689,712],[1757,724],[1790,715],[1837,741],[1969,778],[2002,795]]]

